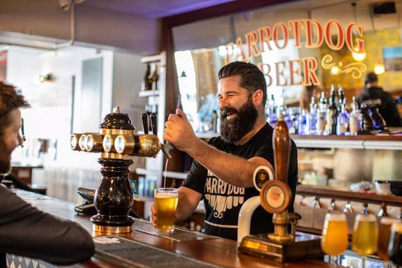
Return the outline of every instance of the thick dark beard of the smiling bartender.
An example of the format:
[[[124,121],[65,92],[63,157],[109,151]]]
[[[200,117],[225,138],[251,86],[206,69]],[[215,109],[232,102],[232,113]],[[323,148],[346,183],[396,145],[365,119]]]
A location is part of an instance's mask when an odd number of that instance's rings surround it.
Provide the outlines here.
[[[229,113],[235,114],[234,117],[228,119]],[[237,142],[253,129],[257,118],[258,110],[251,98],[239,110],[232,107],[221,110],[221,137],[228,143]]]

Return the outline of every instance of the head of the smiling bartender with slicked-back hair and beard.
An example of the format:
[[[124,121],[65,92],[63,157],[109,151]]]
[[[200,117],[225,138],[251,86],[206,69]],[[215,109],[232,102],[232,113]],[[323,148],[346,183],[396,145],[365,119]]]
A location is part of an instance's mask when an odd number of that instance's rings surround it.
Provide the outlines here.
[[[223,66],[218,73],[218,100],[221,110],[221,137],[237,142],[258,121],[265,121],[267,82],[254,64],[241,61]]]

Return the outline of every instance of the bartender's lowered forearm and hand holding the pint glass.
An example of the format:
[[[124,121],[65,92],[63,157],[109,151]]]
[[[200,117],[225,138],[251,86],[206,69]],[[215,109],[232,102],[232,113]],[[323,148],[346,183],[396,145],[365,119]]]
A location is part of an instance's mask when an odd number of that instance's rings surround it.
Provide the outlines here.
[[[202,198],[202,194],[181,186],[179,188],[179,202],[177,203],[176,215],[174,216],[175,221],[184,221],[186,218],[191,216],[198,206]],[[158,215],[156,215],[155,204],[151,205],[151,222],[156,228],[156,221],[158,220]]]

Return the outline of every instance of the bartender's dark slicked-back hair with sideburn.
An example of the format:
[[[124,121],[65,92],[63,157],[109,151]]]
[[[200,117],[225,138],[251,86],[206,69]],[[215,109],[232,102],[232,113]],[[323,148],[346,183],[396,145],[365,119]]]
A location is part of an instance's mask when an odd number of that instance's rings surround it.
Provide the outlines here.
[[[253,94],[257,89],[262,90],[262,105],[265,107],[265,103],[267,103],[267,81],[265,81],[262,71],[254,64],[234,61],[219,70],[218,78],[221,80],[234,75],[240,77],[240,87],[247,89],[250,94]]]

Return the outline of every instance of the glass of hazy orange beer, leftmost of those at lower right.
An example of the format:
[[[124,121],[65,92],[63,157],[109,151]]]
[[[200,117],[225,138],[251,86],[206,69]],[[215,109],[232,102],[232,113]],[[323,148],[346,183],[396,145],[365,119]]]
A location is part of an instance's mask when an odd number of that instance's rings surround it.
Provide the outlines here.
[[[339,255],[348,248],[348,224],[345,214],[327,214],[321,239],[322,251]]]

